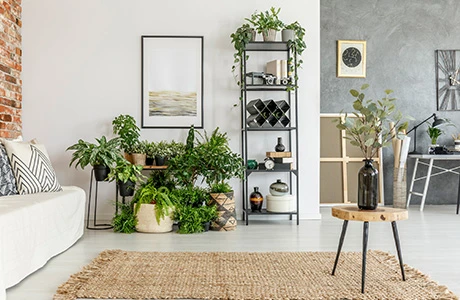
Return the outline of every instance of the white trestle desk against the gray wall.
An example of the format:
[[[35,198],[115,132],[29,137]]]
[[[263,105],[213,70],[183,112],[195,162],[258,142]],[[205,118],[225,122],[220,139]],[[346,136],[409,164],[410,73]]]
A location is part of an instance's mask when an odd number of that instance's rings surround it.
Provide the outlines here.
[[[431,177],[438,176],[438,175],[441,175],[441,174],[444,174],[444,173],[454,173],[454,174],[460,176],[460,173],[455,171],[457,169],[460,169],[460,165],[458,165],[456,167],[453,167],[453,168],[450,168],[450,169],[446,169],[446,168],[443,168],[443,167],[435,165],[435,162],[436,161],[450,160],[450,161],[458,161],[460,163],[460,155],[458,155],[458,154],[455,154],[455,155],[451,155],[451,154],[446,154],[446,155],[442,155],[442,154],[439,154],[439,155],[434,155],[434,154],[409,154],[408,157],[415,159],[415,166],[414,166],[414,173],[412,174],[412,180],[411,180],[411,183],[410,183],[409,196],[407,196],[407,207],[409,207],[410,199],[411,199],[412,195],[416,195],[416,196],[422,197],[422,202],[420,204],[420,211],[423,211],[423,208],[425,207],[425,199],[426,199],[426,194],[428,192],[428,186],[430,184],[430,178]],[[428,162],[425,162],[425,160],[427,160]],[[428,171],[427,171],[426,176],[417,177],[417,170],[418,170],[419,164],[428,166]],[[441,171],[432,174],[433,168],[441,170]],[[423,192],[422,193],[414,192],[414,183],[416,181],[423,180],[423,179],[425,179],[425,186],[423,188]],[[460,177],[459,177],[459,179],[460,179]],[[459,206],[460,206],[460,181],[459,181],[459,187],[458,188],[459,189],[458,189],[458,195],[457,195],[457,214],[458,214],[458,209],[459,209]]]

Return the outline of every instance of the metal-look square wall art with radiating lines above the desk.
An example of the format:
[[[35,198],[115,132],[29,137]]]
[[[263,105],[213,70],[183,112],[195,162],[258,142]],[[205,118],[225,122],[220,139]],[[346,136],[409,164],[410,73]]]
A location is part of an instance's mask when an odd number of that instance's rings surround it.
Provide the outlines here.
[[[438,110],[460,110],[460,50],[436,50]]]

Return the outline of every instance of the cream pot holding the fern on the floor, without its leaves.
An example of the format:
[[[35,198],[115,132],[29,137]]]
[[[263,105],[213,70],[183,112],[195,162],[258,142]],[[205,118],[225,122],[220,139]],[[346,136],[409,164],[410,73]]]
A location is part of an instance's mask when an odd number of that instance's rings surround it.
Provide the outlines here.
[[[162,233],[172,231],[173,220],[171,219],[172,209],[169,215],[160,219],[160,223],[155,218],[155,204],[141,204],[137,212],[136,231],[145,233]]]

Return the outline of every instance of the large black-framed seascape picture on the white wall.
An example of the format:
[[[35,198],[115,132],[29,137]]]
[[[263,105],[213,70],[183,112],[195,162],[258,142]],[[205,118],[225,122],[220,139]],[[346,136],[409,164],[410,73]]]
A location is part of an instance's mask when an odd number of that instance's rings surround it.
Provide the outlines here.
[[[203,128],[203,37],[142,36],[142,128]]]

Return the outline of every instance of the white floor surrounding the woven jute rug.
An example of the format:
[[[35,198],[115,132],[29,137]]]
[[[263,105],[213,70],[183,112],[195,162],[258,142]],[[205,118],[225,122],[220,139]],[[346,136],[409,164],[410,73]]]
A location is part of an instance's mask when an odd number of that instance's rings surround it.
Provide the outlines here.
[[[7,290],[8,300],[49,300],[57,287],[105,249],[136,251],[333,251],[337,250],[342,221],[321,209],[322,220],[240,222],[233,232],[193,235],[119,234],[86,231],[69,250]],[[460,215],[454,206],[411,207],[409,220],[398,222],[404,263],[446,285],[460,295]],[[362,223],[350,222],[342,251],[361,251]],[[390,223],[370,223],[369,249],[396,254]],[[332,268],[332,266],[331,266]],[[360,266],[357,266],[360,268]],[[356,278],[360,280],[360,278]]]

